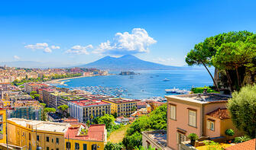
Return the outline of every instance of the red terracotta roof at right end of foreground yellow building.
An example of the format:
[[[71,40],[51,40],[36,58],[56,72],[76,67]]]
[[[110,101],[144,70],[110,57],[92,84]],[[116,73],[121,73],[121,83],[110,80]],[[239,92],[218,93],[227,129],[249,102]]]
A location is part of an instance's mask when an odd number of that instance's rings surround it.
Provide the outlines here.
[[[91,125],[89,126],[88,133],[86,136],[78,136],[79,127],[73,126],[67,129],[65,138],[66,139],[79,139],[79,140],[90,140],[90,141],[104,141],[105,139],[105,124]]]

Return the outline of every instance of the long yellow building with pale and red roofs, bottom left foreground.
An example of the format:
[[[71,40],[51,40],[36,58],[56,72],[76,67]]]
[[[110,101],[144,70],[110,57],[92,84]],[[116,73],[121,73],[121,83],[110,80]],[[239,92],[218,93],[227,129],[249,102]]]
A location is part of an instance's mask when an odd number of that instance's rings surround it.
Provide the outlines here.
[[[9,149],[83,150],[86,147],[87,150],[103,150],[107,138],[105,125],[88,128],[79,123],[71,125],[11,118],[7,129]],[[5,143],[4,134],[0,148],[5,149]]]

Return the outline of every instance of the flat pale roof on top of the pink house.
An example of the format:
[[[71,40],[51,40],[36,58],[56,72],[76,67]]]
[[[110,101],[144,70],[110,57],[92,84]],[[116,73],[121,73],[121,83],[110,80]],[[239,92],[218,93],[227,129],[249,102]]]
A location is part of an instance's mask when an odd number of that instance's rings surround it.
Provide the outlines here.
[[[215,102],[225,102],[231,98],[227,94],[181,94],[181,95],[167,95],[165,97],[175,98],[183,101],[190,101],[199,104],[208,104]]]

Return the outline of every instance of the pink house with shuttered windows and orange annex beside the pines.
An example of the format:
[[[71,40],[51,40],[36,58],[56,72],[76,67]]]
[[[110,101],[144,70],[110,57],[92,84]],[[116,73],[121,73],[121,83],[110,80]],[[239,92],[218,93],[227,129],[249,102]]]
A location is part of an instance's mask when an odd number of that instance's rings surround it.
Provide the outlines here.
[[[218,139],[225,136],[226,129],[235,128],[226,110],[228,95],[186,94],[166,98],[169,148],[180,149],[180,143],[189,140],[190,133]]]

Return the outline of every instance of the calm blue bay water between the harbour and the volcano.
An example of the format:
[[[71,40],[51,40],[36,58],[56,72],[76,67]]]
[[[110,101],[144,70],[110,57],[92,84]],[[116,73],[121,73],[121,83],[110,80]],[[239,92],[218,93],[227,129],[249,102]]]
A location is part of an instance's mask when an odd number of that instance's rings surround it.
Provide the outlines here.
[[[117,72],[115,72],[117,73]],[[109,75],[85,78],[74,78],[68,80],[64,85],[57,85],[63,88],[76,88],[85,86],[99,86],[109,88],[127,89],[129,98],[164,97],[167,88],[180,88],[190,90],[192,86],[202,87],[212,85],[206,70],[167,70],[167,71],[138,71],[140,75]],[[157,76],[159,75],[159,76]],[[153,77],[153,78],[151,78]],[[163,81],[164,78],[170,81]]]

